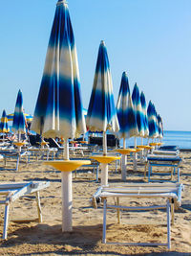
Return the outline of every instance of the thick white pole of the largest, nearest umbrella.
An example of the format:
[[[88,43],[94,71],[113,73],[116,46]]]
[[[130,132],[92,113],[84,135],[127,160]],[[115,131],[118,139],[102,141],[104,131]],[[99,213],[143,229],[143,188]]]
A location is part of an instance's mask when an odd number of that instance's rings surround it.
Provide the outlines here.
[[[64,160],[69,159],[68,139],[64,139]],[[62,232],[73,230],[73,186],[72,172],[61,172],[62,177]]]

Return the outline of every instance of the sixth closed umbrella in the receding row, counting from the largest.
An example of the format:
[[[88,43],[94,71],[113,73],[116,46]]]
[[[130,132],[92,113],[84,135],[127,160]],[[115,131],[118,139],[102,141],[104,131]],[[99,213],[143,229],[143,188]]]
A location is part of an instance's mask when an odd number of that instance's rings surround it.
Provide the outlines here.
[[[148,116],[148,124],[149,124],[149,137],[150,138],[157,138],[159,135],[158,125],[157,125],[157,118],[156,118],[156,110],[155,106],[149,102],[147,107],[147,116]]]

